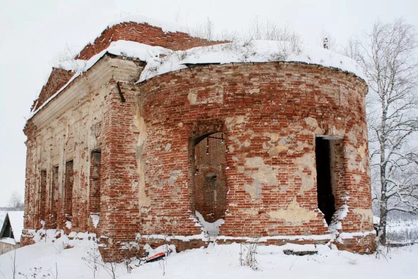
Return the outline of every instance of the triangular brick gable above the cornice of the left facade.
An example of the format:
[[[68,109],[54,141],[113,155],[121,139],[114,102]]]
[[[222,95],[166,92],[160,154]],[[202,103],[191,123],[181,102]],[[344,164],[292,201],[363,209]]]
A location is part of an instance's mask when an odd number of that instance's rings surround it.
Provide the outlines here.
[[[52,72],[48,78],[47,83],[42,86],[41,92],[36,100],[33,101],[31,110],[35,111],[42,106],[46,100],[55,94],[62,86],[64,86],[74,73],[60,68],[52,68]]]

